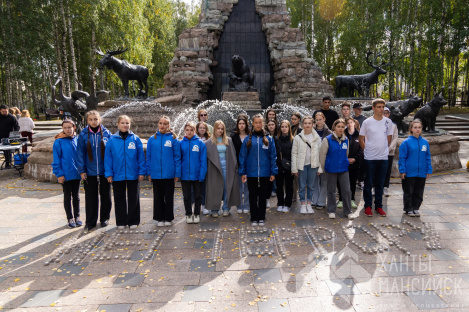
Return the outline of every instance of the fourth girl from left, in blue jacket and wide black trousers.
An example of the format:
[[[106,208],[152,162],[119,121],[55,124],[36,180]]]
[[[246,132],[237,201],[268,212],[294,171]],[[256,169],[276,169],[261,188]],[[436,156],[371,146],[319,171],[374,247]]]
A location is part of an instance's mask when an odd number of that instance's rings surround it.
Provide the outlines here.
[[[174,220],[174,184],[181,178],[181,149],[169,123],[169,117],[161,117],[158,132],[147,143],[147,175],[153,183],[153,222],[158,226],[170,226]]]

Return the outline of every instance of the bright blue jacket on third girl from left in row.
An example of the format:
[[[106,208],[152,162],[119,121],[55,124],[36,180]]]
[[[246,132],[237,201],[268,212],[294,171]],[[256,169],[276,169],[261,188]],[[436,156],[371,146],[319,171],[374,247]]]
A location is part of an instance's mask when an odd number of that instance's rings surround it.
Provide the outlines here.
[[[113,181],[137,180],[145,175],[145,153],[140,138],[129,131],[124,139],[119,132],[111,135],[104,155],[104,175]]]

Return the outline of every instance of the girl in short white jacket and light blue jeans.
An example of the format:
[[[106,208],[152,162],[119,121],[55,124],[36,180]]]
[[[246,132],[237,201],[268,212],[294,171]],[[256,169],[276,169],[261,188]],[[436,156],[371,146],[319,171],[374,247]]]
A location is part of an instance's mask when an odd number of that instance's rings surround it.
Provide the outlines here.
[[[311,207],[313,185],[316,176],[322,173],[319,163],[321,138],[313,131],[313,117],[303,118],[303,132],[295,136],[292,148],[291,171],[298,176],[298,193],[300,195],[300,213],[314,213]]]

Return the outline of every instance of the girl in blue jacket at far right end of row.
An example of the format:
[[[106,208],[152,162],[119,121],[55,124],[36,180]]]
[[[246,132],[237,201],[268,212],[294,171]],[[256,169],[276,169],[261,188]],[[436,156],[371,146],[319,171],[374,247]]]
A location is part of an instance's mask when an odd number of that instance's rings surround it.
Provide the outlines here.
[[[410,136],[399,146],[399,173],[404,191],[404,212],[410,217],[420,217],[426,179],[433,172],[430,145],[420,136],[422,122],[410,123]]]

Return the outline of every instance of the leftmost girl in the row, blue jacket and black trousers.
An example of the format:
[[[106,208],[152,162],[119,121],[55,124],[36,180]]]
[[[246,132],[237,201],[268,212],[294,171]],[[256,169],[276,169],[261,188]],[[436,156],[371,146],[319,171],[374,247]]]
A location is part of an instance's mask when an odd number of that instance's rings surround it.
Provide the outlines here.
[[[64,208],[68,226],[74,228],[83,225],[80,220],[80,174],[77,166],[76,125],[70,119],[62,122],[62,132],[55,136],[52,149],[54,161],[52,172],[62,184],[64,192]],[[73,202],[73,211],[70,200]]]

